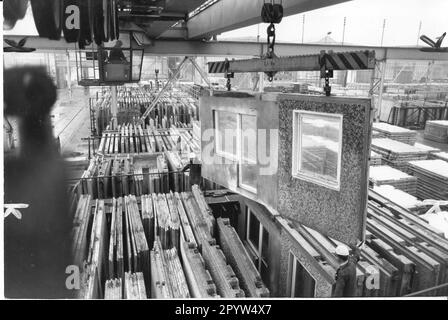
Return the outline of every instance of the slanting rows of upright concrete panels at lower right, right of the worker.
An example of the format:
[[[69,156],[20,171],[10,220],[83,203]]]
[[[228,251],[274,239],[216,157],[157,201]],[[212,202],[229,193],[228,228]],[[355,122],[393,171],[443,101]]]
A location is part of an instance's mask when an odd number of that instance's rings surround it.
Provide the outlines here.
[[[448,241],[443,232],[373,190],[369,199],[367,245],[381,258],[378,262],[382,263],[375,264],[380,267],[380,279],[383,272],[391,276],[388,287],[395,294],[389,291],[387,295],[401,296],[446,283]],[[448,289],[441,288],[424,295],[446,294]]]

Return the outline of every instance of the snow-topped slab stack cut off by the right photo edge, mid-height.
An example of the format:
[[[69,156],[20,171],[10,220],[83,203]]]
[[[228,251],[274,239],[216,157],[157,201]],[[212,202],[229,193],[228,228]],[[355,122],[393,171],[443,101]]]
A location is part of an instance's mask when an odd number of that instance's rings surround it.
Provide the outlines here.
[[[448,162],[422,160],[409,162],[409,170],[417,177],[417,196],[421,199],[448,199]]]

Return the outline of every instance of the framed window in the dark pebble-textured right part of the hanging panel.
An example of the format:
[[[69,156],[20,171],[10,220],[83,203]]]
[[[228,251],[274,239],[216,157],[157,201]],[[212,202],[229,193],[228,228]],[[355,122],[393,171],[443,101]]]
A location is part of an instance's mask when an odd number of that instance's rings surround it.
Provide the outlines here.
[[[339,190],[342,115],[294,111],[294,177]]]

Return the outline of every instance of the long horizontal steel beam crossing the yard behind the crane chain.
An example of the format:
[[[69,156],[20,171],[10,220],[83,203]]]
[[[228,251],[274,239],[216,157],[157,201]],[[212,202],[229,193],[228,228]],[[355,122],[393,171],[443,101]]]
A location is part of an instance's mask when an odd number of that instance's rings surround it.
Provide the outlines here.
[[[6,39],[20,41],[24,36],[4,36]],[[75,50],[74,43],[65,40],[48,40],[39,37],[27,37],[26,47],[37,48],[39,52],[58,50]],[[369,47],[369,46],[335,46],[320,44],[276,43],[277,56],[296,56],[318,54],[320,51],[375,51],[377,60],[426,60],[448,61],[447,52],[422,52],[420,48],[407,47]],[[145,55],[158,56],[212,56],[212,57],[260,57],[266,52],[266,44],[260,42],[239,41],[186,41],[153,40],[152,45],[145,46]],[[8,54],[8,53],[5,53]]]

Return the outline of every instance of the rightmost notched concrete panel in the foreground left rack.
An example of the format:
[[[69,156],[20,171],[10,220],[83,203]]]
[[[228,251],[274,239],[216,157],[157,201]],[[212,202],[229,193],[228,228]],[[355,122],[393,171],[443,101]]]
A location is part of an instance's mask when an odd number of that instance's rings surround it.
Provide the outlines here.
[[[238,233],[230,225],[229,219],[217,219],[219,239],[224,255],[240,279],[246,297],[269,297],[269,290],[263,284],[260,274],[249,257]]]

